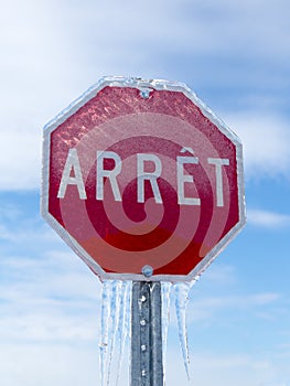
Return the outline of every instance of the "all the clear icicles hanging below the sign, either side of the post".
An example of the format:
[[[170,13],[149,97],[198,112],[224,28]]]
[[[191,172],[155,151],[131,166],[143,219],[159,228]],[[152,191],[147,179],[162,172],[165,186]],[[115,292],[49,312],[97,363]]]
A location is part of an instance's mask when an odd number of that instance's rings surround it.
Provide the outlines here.
[[[174,297],[179,340],[184,368],[190,379],[190,354],[186,330],[186,307],[189,293],[194,282],[162,282],[162,349],[163,369],[168,330],[170,323],[171,296]],[[172,291],[173,289],[173,291]],[[126,344],[131,329],[131,281],[107,280],[103,283],[100,375],[101,386],[118,386]],[[112,368],[116,372],[112,372]],[[114,373],[114,374],[112,374]]]

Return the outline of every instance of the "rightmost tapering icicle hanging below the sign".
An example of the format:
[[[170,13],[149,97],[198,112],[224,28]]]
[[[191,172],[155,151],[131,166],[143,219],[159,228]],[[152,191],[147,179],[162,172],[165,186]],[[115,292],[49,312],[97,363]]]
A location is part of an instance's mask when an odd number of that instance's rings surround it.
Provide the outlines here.
[[[186,329],[186,305],[189,300],[189,292],[192,283],[178,282],[174,285],[175,290],[175,311],[179,326],[180,345],[183,356],[183,363],[187,379],[190,380],[190,354],[187,344],[187,329]]]

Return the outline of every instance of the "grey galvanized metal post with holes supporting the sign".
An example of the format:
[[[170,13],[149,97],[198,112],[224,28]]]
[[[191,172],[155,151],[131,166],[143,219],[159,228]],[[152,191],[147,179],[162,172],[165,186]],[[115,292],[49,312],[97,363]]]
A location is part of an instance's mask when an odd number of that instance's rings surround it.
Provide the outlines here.
[[[133,281],[130,386],[163,386],[161,282]]]

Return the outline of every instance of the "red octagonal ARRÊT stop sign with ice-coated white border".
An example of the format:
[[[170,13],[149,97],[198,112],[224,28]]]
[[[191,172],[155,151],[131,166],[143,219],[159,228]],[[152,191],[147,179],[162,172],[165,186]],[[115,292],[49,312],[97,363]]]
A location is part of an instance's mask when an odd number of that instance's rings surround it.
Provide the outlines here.
[[[42,214],[101,279],[191,280],[245,223],[240,141],[180,83],[103,78],[43,160]]]

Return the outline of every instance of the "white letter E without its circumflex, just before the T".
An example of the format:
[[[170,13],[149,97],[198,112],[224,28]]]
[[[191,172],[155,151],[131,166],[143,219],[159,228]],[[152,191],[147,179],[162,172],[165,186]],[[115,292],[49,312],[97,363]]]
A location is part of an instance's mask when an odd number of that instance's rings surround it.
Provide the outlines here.
[[[184,174],[184,164],[185,163],[198,163],[198,158],[196,157],[178,157],[178,195],[179,195],[179,204],[182,205],[201,205],[201,199],[197,197],[185,197],[184,194],[184,184],[193,183],[193,176],[189,174]]]

